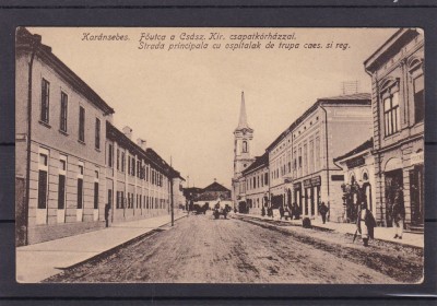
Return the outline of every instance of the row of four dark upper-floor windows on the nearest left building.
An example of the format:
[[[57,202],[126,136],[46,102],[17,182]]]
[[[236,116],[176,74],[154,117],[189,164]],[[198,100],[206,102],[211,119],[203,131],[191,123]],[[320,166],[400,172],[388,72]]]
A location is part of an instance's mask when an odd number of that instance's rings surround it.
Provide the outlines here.
[[[61,92],[59,97],[60,114],[59,114],[59,130],[68,133],[68,95]],[[50,123],[50,83],[43,79],[42,81],[42,98],[40,98],[40,117],[39,120],[46,125]],[[79,107],[79,130],[78,139],[85,142],[85,108]],[[101,119],[95,120],[95,149],[101,149]]]

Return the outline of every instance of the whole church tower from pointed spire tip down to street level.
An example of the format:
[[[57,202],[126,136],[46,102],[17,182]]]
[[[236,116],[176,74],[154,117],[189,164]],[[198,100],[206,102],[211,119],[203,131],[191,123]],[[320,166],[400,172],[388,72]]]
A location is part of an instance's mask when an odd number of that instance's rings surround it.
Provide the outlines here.
[[[232,199],[235,205],[246,205],[246,181],[241,176],[244,169],[253,162],[253,129],[247,123],[245,93],[241,93],[241,105],[238,126],[234,130],[234,177],[232,180]]]

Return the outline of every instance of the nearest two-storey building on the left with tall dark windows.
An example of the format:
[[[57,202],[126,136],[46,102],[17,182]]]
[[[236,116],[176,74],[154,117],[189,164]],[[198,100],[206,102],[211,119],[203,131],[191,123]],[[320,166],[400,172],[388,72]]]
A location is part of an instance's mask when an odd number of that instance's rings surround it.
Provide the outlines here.
[[[15,84],[16,244],[102,227],[114,109],[25,28]]]

